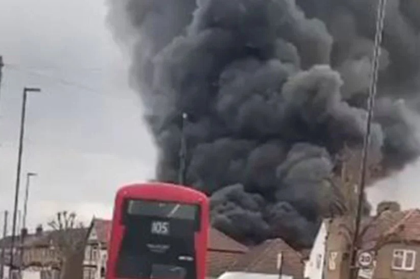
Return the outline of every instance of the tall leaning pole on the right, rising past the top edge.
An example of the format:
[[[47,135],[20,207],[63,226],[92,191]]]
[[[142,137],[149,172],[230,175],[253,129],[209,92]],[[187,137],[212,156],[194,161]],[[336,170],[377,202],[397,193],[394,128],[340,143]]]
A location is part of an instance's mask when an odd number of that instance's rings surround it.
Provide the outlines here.
[[[373,110],[375,106],[375,95],[377,91],[378,83],[378,69],[379,69],[379,56],[381,55],[381,43],[382,43],[382,32],[384,30],[384,19],[385,19],[385,8],[386,0],[379,0],[378,10],[377,10],[377,19],[376,19],[376,33],[375,33],[375,46],[374,46],[374,57],[371,69],[371,80],[369,86],[369,96],[367,102],[367,119],[366,119],[366,133],[363,139],[363,154],[360,170],[360,185],[359,185],[359,196],[357,204],[357,214],[355,218],[355,232],[352,242],[352,250],[350,251],[350,265],[349,265],[349,278],[357,279],[358,277],[358,268],[356,266],[357,258],[357,242],[359,241],[359,230],[360,222],[362,218],[362,206],[363,206],[363,194],[366,182],[366,165],[367,165],[367,155],[370,143],[370,130],[371,122],[373,116]]]

